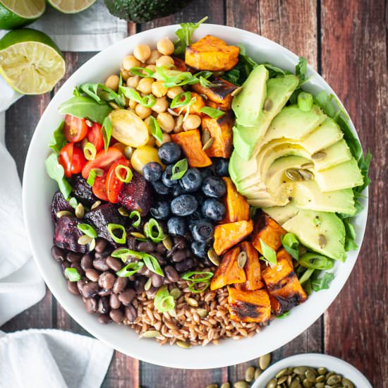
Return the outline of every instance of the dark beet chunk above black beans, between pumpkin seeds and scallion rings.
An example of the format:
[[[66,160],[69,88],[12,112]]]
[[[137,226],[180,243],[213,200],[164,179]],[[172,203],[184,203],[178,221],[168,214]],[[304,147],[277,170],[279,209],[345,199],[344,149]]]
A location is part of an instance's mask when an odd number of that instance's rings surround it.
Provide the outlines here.
[[[126,219],[119,213],[119,207],[113,203],[100,205],[96,209],[86,213],[84,219],[95,228],[97,236],[105,238],[105,240],[108,240],[114,246],[117,244],[109,234],[108,224],[119,224],[123,226],[126,224]]]

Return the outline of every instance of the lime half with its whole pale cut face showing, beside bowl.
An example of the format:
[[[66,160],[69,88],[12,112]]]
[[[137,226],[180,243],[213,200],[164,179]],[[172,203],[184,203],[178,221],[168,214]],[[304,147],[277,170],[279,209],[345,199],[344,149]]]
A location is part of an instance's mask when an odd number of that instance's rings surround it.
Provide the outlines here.
[[[65,70],[61,51],[43,32],[22,28],[8,32],[0,40],[0,74],[16,92],[49,92]]]

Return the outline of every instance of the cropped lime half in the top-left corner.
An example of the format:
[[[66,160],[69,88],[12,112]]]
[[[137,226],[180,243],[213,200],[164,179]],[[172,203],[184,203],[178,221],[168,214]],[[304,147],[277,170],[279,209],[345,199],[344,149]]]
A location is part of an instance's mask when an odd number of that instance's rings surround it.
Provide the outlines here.
[[[0,30],[13,30],[43,15],[44,0],[0,0]]]

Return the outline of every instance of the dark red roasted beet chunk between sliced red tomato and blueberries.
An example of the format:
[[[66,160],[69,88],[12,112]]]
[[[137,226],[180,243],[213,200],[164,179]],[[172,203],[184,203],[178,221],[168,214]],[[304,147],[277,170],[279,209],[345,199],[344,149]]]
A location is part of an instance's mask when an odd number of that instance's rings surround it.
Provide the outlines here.
[[[119,193],[119,205],[129,211],[138,210],[144,216],[150,211],[151,196],[150,183],[134,171],[131,183],[124,184]]]

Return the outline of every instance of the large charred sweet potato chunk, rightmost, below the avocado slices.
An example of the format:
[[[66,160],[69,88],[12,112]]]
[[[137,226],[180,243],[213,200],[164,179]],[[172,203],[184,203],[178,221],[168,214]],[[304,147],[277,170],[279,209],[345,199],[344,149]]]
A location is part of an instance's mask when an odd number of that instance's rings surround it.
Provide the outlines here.
[[[272,311],[276,315],[289,311],[307,299],[307,294],[293,272],[291,256],[284,249],[277,253],[277,265],[268,266],[262,271],[262,279],[271,297]]]

